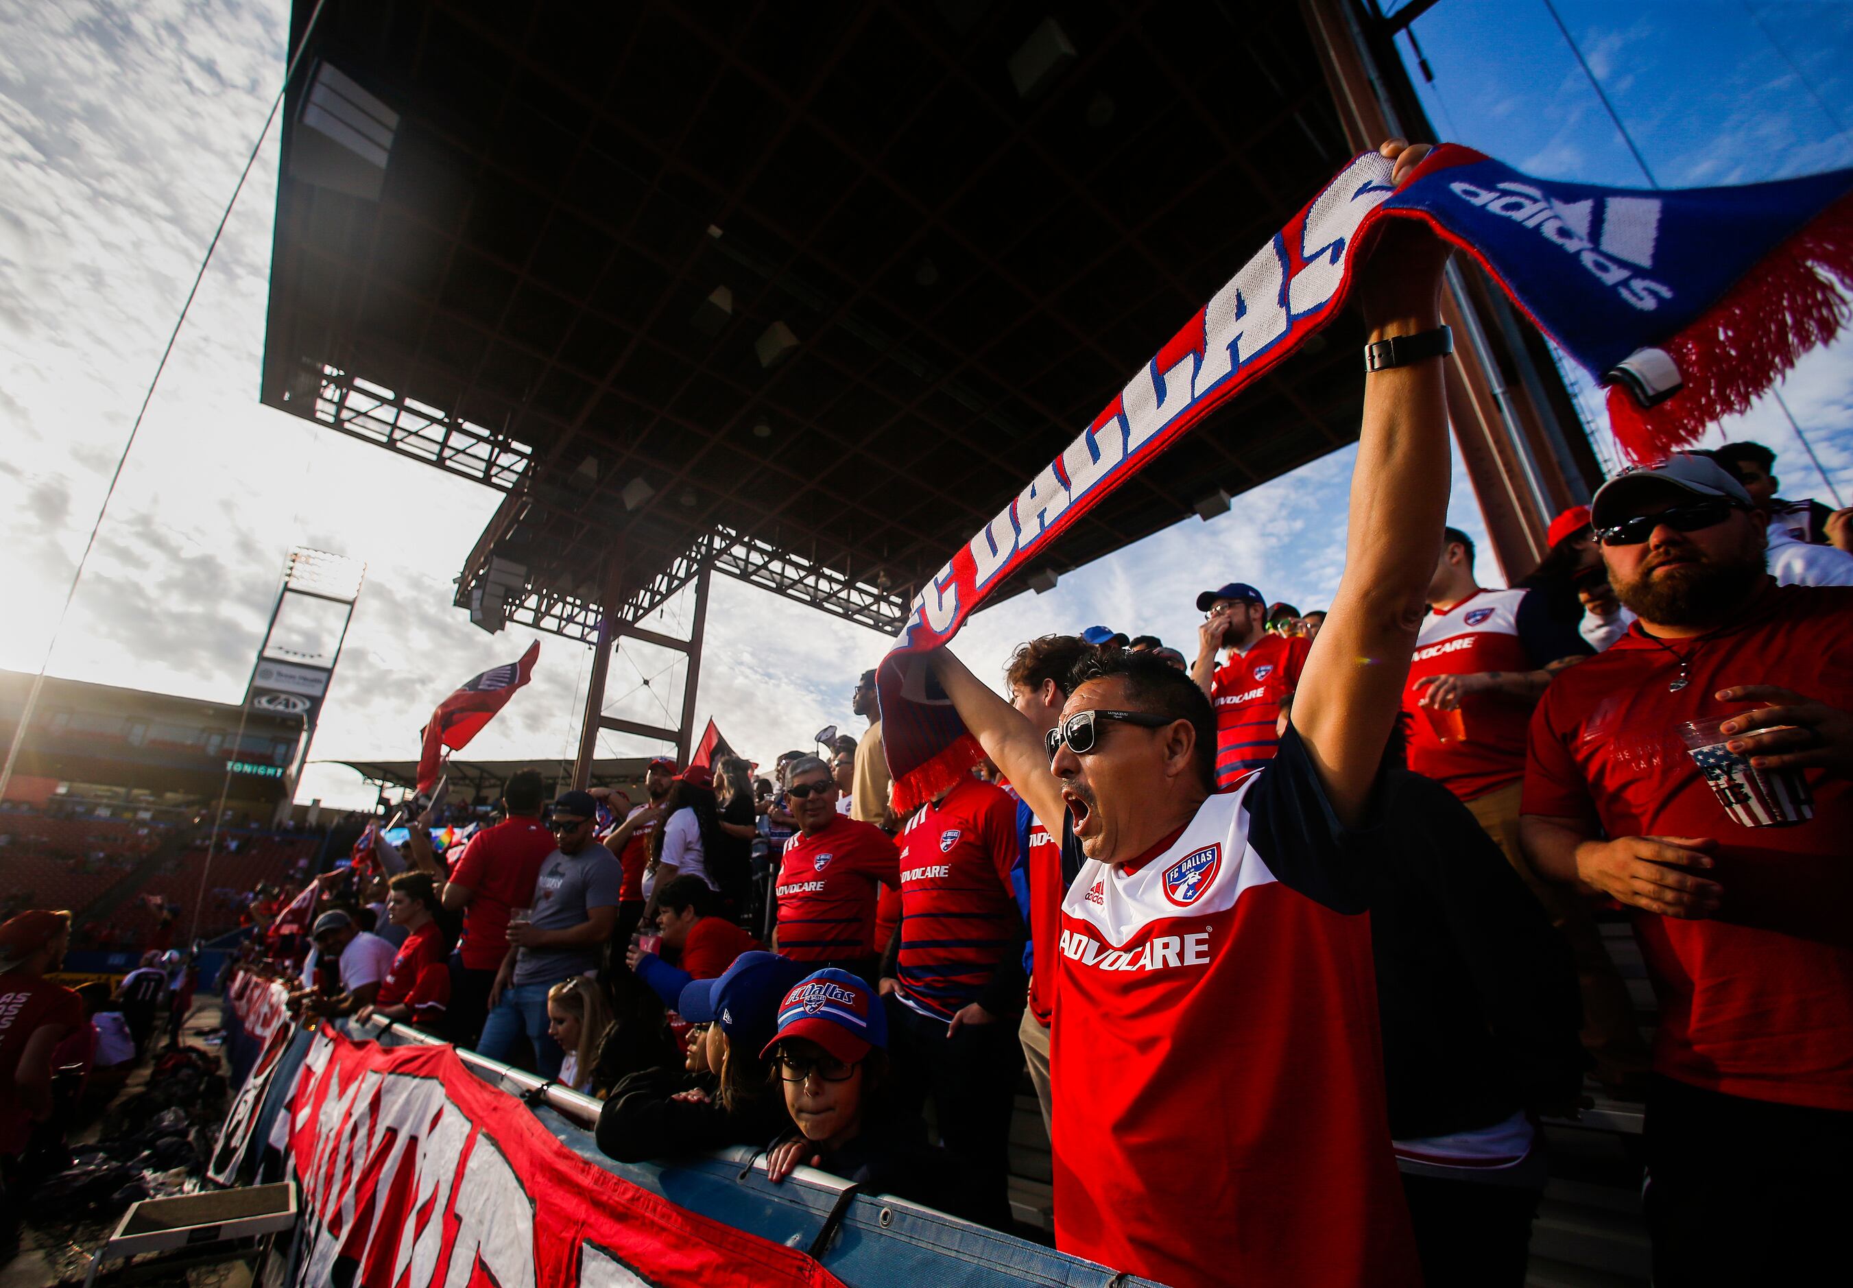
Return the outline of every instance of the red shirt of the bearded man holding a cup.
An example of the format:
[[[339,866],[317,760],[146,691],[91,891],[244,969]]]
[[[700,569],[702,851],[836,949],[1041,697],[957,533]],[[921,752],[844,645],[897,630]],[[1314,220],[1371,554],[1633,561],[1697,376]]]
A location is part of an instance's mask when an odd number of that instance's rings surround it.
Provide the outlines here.
[[[1708,836],[1723,888],[1705,921],[1634,912],[1660,999],[1658,1073],[1783,1105],[1853,1110],[1853,784],[1805,773],[1814,817],[1746,827],[1705,784],[1677,725],[1729,715],[1714,693],[1781,684],[1853,710],[1853,589],[1770,586],[1744,623],[1666,641],[1631,626],[1551,680],[1531,721],[1525,814],[1608,836]]]

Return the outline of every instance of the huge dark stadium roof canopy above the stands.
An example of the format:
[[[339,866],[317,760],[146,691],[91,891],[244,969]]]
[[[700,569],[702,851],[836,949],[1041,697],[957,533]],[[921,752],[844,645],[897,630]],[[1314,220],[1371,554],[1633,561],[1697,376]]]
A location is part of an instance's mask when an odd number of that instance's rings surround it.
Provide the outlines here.
[[[326,0],[261,397],[504,491],[495,621],[591,639],[708,562],[891,632],[1351,150],[1292,4]],[[1002,593],[1353,441],[1358,345]]]

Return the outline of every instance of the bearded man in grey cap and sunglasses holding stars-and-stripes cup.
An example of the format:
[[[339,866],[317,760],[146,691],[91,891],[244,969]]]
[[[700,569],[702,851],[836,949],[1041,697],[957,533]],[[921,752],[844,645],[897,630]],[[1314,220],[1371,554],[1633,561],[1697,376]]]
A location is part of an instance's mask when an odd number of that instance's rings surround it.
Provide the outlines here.
[[[1699,456],[1590,510],[1638,621],[1532,715],[1525,852],[1634,910],[1655,1282],[1803,1282],[1853,1205],[1853,589],[1777,586],[1766,517]],[[1688,752],[1707,717],[1725,741]]]

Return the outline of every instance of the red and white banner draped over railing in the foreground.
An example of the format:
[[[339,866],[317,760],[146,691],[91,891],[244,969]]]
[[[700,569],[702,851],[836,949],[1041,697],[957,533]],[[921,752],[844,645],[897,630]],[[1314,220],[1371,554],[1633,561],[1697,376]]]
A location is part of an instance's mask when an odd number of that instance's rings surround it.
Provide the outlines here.
[[[804,1253],[591,1166],[450,1047],[322,1029],[271,1125],[302,1223],[265,1284],[841,1288]]]

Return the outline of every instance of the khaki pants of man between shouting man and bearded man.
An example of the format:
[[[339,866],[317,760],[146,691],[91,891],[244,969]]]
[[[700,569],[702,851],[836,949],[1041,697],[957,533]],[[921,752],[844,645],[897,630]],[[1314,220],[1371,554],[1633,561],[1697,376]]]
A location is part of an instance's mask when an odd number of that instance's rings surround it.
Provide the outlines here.
[[[1557,886],[1540,880],[1531,864],[1525,862],[1518,847],[1518,806],[1523,784],[1488,791],[1468,801],[1473,817],[1486,836],[1499,843],[1506,862],[1512,864],[1525,886],[1544,904],[1566,940],[1577,962],[1577,984],[1582,991],[1582,1049],[1595,1060],[1595,1077],[1607,1084],[1638,1079],[1647,1069],[1647,1043],[1634,1025],[1634,1003],[1627,995],[1627,982],[1616,969],[1608,949],[1603,947],[1601,930],[1590,917],[1590,908],[1582,895],[1569,886]]]

